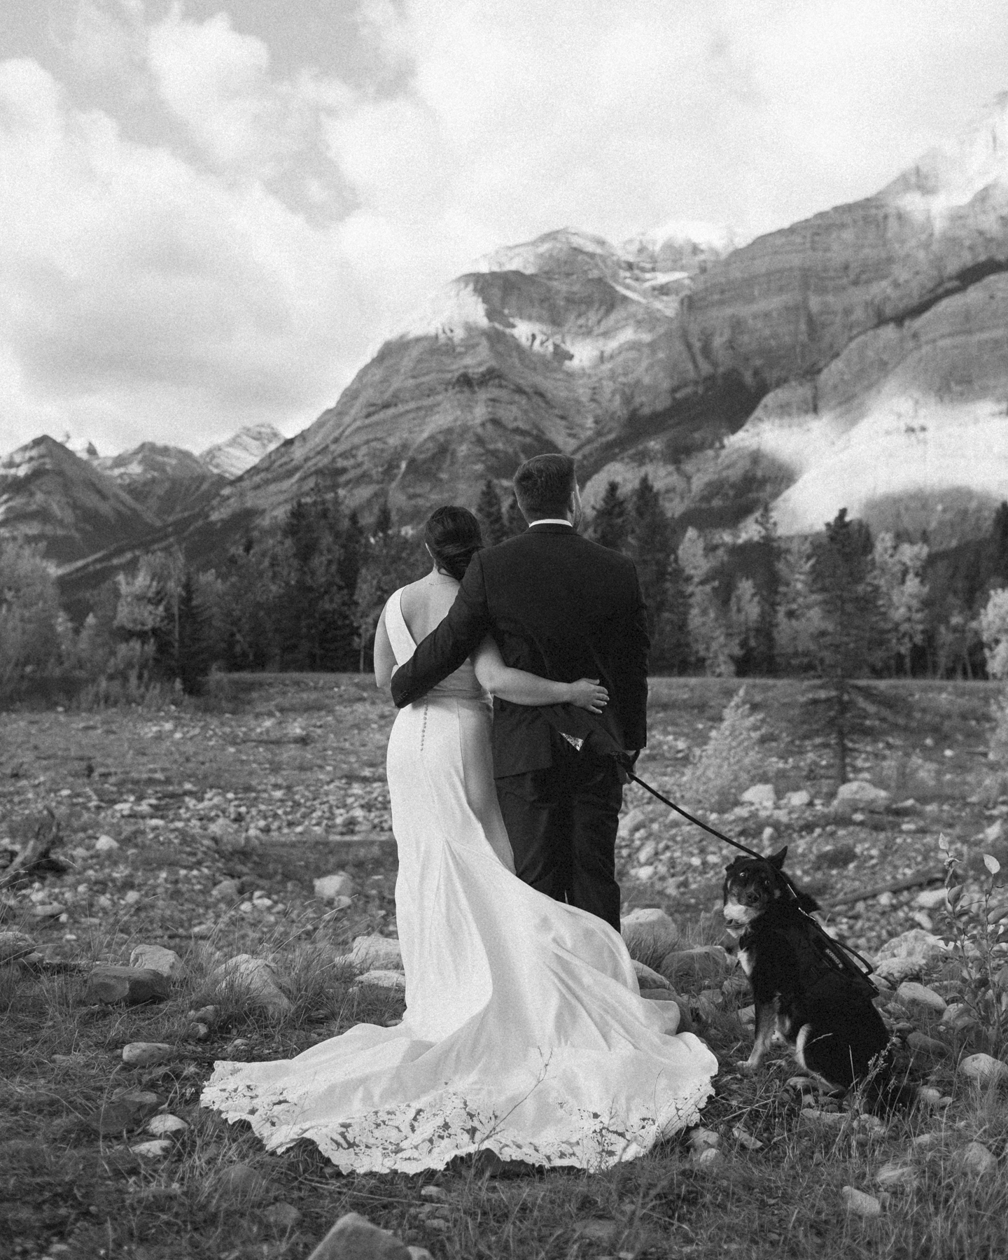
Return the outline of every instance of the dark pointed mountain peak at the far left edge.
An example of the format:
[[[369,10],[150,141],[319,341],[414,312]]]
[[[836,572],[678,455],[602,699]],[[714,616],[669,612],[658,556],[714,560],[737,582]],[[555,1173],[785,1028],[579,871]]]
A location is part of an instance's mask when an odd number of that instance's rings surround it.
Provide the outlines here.
[[[57,563],[140,539],[156,524],[112,478],[52,437],[0,460],[0,532],[42,544]]]

